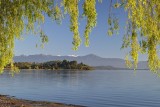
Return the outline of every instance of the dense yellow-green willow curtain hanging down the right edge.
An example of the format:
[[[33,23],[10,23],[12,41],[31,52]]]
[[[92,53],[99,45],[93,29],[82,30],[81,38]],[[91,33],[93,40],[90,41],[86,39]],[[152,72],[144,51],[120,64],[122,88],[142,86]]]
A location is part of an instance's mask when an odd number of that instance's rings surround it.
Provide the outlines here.
[[[138,53],[148,55],[148,67],[158,73],[160,60],[158,46],[160,43],[160,1],[159,0],[122,0],[128,12],[128,32],[131,48],[130,55],[135,66]],[[139,42],[138,42],[139,39]],[[124,41],[125,42],[125,41]]]

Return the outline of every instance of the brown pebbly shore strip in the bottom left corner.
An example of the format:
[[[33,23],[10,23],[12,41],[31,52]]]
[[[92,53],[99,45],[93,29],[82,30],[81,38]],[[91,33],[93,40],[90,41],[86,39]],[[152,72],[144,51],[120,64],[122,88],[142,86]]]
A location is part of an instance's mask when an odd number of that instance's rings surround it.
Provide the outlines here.
[[[49,101],[33,101],[18,99],[14,96],[0,94],[0,106],[2,107],[85,107],[73,104],[64,104]]]

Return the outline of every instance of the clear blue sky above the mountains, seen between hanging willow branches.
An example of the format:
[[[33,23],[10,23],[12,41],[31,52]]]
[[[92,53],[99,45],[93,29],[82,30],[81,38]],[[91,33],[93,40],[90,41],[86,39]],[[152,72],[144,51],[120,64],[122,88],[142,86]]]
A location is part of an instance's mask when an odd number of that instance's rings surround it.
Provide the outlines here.
[[[79,4],[80,14],[82,14],[82,1]],[[119,18],[119,34],[108,36],[107,35],[107,18],[109,14],[109,0],[103,0],[102,3],[96,4],[97,9],[97,26],[92,29],[90,34],[90,46],[84,46],[84,30],[86,25],[86,19],[79,19],[79,32],[82,38],[81,46],[77,51],[72,50],[73,33],[70,32],[70,19],[69,15],[66,15],[62,24],[58,25],[52,21],[49,17],[45,18],[43,25],[44,32],[49,38],[49,42],[42,49],[36,47],[39,43],[39,37],[36,35],[24,35],[23,40],[15,41],[15,55],[33,55],[33,54],[45,54],[45,55],[87,55],[95,54],[104,58],[124,58],[129,50],[121,50],[123,43],[123,35],[125,33],[125,24],[127,19],[127,12],[123,8],[114,9],[113,13]],[[39,43],[40,44],[40,43]],[[146,56],[140,55],[140,60],[146,60]]]

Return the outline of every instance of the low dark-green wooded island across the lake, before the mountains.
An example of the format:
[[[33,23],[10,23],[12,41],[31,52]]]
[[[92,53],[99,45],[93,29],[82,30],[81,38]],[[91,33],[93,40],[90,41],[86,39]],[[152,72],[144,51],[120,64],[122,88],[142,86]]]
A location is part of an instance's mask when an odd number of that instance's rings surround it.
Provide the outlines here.
[[[89,65],[78,63],[77,61],[57,60],[48,61],[43,63],[38,62],[15,62],[14,65],[19,69],[74,69],[74,70],[92,70],[93,68]]]

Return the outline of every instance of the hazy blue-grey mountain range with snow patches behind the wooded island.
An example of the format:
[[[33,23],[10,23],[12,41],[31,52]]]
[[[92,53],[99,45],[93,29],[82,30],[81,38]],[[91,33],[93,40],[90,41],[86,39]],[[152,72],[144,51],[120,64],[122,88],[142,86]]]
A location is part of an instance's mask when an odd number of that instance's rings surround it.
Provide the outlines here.
[[[126,68],[125,60],[120,58],[102,58],[94,54],[89,54],[86,56],[52,56],[52,55],[43,55],[43,54],[37,54],[37,55],[21,55],[21,56],[15,56],[14,61],[15,62],[46,62],[46,61],[53,61],[53,60],[76,60],[77,62],[83,62],[90,66],[96,66],[96,67],[113,67],[113,68]],[[146,61],[139,61],[138,63],[138,69],[148,69],[147,62]]]

